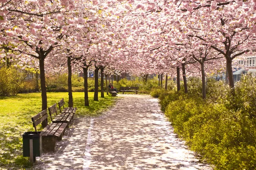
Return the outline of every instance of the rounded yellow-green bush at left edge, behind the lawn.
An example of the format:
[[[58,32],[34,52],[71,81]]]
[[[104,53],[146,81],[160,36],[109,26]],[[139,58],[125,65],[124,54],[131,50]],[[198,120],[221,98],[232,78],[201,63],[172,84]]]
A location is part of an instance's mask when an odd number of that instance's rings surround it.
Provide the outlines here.
[[[25,78],[26,75],[22,71],[15,69],[15,67],[0,68],[0,95],[17,95],[23,88]]]

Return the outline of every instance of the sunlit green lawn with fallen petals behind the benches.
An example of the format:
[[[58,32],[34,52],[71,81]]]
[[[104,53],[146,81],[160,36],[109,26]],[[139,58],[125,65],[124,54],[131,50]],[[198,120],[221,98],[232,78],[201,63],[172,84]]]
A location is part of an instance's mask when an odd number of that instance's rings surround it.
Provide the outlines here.
[[[115,103],[115,98],[106,95],[99,101],[93,101],[93,92],[89,92],[89,107],[84,107],[84,92],[73,92],[76,116],[97,116]],[[48,107],[64,98],[68,106],[67,92],[47,92]],[[31,117],[41,111],[41,93],[18,94],[14,97],[0,97],[0,170],[24,169],[29,167],[29,157],[23,157],[22,134],[35,131]],[[48,112],[48,110],[47,110]],[[48,113],[49,114],[49,113]],[[50,118],[48,117],[50,122]],[[38,125],[39,128],[39,125]]]

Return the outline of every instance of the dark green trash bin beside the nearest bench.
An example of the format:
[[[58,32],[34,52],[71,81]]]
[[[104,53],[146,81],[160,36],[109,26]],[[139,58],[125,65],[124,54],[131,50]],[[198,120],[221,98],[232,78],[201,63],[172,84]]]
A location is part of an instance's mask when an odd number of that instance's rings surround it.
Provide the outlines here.
[[[43,149],[42,149],[42,137],[40,136],[40,133],[41,132],[25,132],[22,135],[24,157],[30,157],[30,146],[29,146],[30,139],[32,139],[32,143],[33,143],[33,157],[41,156],[41,153],[43,153]]]

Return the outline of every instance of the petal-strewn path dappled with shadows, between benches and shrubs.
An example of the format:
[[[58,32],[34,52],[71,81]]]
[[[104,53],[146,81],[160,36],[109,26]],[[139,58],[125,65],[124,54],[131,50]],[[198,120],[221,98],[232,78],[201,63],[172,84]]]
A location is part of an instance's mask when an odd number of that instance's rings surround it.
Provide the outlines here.
[[[121,95],[96,118],[76,118],[57,145],[43,154],[43,170],[212,170],[180,141],[158,99]]]

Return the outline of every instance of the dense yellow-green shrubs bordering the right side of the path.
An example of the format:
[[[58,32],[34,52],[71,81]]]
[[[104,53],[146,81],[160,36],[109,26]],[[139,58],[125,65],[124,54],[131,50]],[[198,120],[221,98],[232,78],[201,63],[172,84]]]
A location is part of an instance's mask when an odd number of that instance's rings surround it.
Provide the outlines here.
[[[161,109],[175,133],[216,170],[256,169],[256,78],[244,75],[235,94],[227,85],[207,80],[207,99],[190,81],[190,94],[161,92]],[[195,93],[195,95],[192,94]]]

